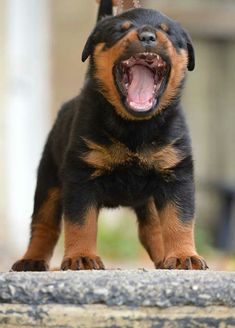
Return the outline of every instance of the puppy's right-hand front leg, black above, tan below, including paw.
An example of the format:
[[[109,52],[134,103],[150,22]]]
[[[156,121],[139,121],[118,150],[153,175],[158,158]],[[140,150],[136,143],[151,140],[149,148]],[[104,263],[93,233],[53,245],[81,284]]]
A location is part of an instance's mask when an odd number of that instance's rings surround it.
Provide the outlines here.
[[[195,247],[193,182],[177,182],[167,194],[169,198],[159,210],[165,251],[162,268],[207,269]]]

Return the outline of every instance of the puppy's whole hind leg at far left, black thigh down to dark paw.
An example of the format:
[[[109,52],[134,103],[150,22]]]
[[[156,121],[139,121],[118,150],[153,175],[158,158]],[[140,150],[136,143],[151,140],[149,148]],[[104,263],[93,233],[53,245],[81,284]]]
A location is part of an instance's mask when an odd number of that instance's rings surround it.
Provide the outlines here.
[[[38,170],[29,245],[22,259],[13,264],[13,271],[48,270],[60,234],[61,188],[48,148],[47,144]]]

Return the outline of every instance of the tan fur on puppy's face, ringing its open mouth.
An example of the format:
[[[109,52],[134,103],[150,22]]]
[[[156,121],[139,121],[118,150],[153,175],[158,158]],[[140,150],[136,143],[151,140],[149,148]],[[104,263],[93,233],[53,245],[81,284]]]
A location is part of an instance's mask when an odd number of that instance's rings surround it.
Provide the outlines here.
[[[163,24],[163,28],[167,28],[167,26],[164,26]],[[180,87],[180,83],[184,78],[188,64],[188,54],[186,50],[182,49],[178,53],[164,32],[157,31],[156,36],[158,40],[157,48],[167,51],[171,59],[172,68],[167,88],[161,97],[157,110],[155,113],[144,117],[145,120],[148,120],[153,115],[158,114],[163,110],[163,108],[170,104],[176,95],[178,88]],[[133,117],[123,107],[113,79],[113,67],[115,63],[118,61],[121,55],[125,53],[127,45],[132,42],[136,43],[136,47],[138,48],[139,39],[136,31],[130,31],[123,39],[117,42],[110,49],[106,50],[104,43],[98,44],[94,52],[96,66],[95,78],[100,83],[103,95],[116,108],[117,112],[123,118],[129,120],[140,120],[143,118]]]

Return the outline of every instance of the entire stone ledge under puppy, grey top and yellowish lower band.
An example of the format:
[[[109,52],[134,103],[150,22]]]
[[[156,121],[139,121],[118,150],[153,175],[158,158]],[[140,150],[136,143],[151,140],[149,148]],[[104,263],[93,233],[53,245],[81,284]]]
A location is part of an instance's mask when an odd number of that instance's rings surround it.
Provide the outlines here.
[[[0,274],[1,327],[235,327],[235,273]]]

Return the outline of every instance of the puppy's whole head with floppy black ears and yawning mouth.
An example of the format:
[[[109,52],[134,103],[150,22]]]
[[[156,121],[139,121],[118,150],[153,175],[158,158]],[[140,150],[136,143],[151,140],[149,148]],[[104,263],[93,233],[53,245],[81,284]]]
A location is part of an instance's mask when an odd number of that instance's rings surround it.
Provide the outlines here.
[[[102,20],[85,45],[101,93],[125,119],[149,119],[180,94],[195,66],[191,39],[167,16],[133,9]]]

